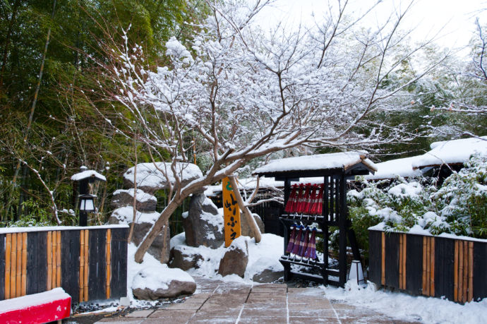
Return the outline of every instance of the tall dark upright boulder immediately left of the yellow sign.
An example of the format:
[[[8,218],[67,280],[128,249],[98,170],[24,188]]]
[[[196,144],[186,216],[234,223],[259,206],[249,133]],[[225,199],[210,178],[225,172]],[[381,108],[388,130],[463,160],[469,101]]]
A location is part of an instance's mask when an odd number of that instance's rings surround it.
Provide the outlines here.
[[[188,212],[183,213],[188,246],[219,248],[224,242],[223,216],[204,193],[193,193]]]

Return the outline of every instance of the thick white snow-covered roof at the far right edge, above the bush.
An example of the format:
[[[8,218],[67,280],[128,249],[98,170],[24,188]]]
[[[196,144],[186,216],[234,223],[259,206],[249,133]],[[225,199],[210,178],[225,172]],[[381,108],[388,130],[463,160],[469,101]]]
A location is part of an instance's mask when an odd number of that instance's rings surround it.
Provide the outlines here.
[[[464,163],[474,154],[487,155],[487,136],[432,143],[431,150],[420,155],[413,163],[413,168]]]

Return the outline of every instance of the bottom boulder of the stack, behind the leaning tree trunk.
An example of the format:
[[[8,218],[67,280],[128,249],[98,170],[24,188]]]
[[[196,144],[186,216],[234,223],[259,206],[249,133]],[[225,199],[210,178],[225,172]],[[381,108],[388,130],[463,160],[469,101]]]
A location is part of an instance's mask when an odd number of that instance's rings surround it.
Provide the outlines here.
[[[152,224],[159,218],[159,212],[137,212],[136,223],[133,226],[132,242],[138,246],[144,239],[145,235],[152,228]],[[125,206],[117,208],[109,217],[109,224],[131,224],[133,220],[132,206]],[[154,256],[161,263],[169,262],[169,240],[171,233],[169,232],[169,224],[166,224],[162,232],[157,235],[148,249],[148,253]]]

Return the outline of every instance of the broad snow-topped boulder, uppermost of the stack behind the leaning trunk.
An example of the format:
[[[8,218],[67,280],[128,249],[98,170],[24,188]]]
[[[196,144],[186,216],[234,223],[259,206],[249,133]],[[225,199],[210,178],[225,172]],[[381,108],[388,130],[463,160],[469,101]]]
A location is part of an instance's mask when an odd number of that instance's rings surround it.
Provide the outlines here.
[[[167,188],[167,179],[162,172],[164,171],[168,177],[171,184],[174,184],[176,180],[174,179],[174,174],[171,169],[171,163],[167,162],[156,162],[154,163],[139,163],[137,164],[137,186],[144,191],[156,191],[159,189]],[[130,181],[133,186],[133,176],[135,167],[131,167],[124,174],[124,179]],[[183,183],[188,183],[194,179],[198,179],[203,176],[198,165],[193,163],[183,163],[178,162],[176,164],[176,172]]]

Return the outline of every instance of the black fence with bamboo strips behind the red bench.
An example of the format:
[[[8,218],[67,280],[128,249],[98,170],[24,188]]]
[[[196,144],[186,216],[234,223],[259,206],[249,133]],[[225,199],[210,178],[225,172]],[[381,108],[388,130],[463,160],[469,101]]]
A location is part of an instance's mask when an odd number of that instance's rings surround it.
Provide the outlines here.
[[[0,229],[0,300],[55,287],[73,304],[126,296],[127,236],[126,225]]]

